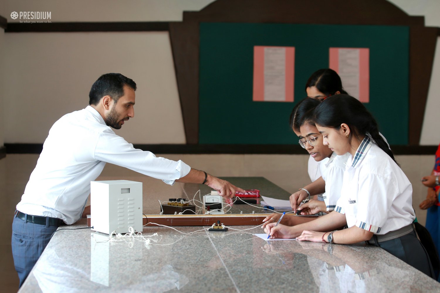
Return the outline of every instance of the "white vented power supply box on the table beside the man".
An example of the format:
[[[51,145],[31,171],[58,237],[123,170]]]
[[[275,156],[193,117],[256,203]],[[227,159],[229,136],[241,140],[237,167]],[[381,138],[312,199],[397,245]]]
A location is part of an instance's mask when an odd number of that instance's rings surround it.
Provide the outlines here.
[[[142,182],[91,181],[90,216],[93,230],[110,234],[142,232]]]

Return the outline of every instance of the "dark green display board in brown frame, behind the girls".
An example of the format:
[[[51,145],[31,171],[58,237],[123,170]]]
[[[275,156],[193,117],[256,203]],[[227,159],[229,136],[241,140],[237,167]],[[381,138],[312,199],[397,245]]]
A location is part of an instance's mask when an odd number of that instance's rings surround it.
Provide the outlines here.
[[[390,145],[408,144],[409,28],[384,25],[201,23],[200,144],[295,144],[294,105],[330,47],[370,48],[370,102]],[[255,102],[253,47],[295,47],[294,101]]]

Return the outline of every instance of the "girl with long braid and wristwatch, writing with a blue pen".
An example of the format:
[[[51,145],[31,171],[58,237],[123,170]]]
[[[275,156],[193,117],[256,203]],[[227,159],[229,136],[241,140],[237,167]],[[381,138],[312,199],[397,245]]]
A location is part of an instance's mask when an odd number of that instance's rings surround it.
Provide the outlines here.
[[[379,135],[364,105],[348,95],[327,98],[315,109],[323,143],[337,155],[349,153],[336,212],[287,227],[267,224],[271,238],[379,246],[435,278],[413,228],[412,186]],[[349,228],[335,229],[348,225]],[[312,231],[313,230],[313,231]]]

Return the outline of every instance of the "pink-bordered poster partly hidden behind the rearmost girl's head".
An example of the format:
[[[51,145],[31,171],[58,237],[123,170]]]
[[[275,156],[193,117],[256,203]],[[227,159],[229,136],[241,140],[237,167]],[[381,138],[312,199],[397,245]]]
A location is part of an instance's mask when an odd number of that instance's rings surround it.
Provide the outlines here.
[[[329,67],[341,76],[349,95],[363,103],[370,101],[370,49],[330,48]]]

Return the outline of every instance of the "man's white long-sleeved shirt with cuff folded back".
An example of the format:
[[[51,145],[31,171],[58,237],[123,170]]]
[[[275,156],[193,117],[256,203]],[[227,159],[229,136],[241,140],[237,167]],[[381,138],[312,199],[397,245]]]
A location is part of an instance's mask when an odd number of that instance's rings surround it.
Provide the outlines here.
[[[106,162],[167,184],[191,170],[182,161],[133,148],[106,125],[98,111],[87,106],[62,116],[51,127],[17,210],[73,224],[87,203],[90,181],[101,174]]]

